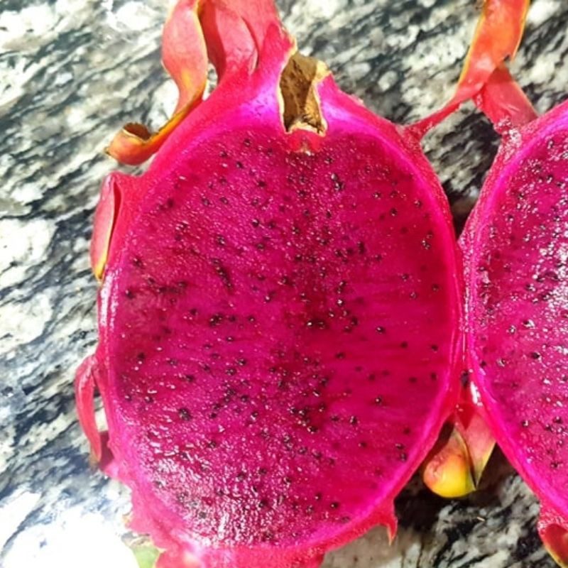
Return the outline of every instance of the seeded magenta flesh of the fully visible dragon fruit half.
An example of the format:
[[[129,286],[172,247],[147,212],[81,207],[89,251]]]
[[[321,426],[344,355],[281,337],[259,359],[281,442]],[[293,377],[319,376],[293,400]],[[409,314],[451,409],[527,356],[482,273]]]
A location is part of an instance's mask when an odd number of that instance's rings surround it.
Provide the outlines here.
[[[376,139],[293,153],[266,128],[202,143],[148,192],[107,273],[107,413],[163,523],[295,545],[392,499],[453,355],[431,191]]]

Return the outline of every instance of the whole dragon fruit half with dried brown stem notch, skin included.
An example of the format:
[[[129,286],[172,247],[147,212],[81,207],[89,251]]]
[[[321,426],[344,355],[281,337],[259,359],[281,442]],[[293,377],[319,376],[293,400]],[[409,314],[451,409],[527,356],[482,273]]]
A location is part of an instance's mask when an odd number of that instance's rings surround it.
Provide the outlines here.
[[[394,534],[456,403],[447,201],[416,131],[297,53],[271,0],[178,1],[163,59],[173,118],[109,147],[155,158],[102,187],[80,422],[160,568],[317,567],[372,525]]]

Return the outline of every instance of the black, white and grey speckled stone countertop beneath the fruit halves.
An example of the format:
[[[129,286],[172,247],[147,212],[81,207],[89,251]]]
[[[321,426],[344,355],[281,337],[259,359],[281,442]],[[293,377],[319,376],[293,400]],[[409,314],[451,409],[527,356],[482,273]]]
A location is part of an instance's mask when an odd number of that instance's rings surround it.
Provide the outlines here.
[[[131,119],[162,123],[175,89],[160,67],[160,0],[0,3],[0,566],[131,568],[127,492],[89,468],[72,377],[96,340],[87,259],[102,153]],[[300,48],[393,121],[449,97],[473,0],[282,0]],[[535,0],[513,70],[539,111],[568,93],[568,4]],[[425,140],[460,226],[498,138],[470,106]],[[549,568],[538,505],[496,459],[490,488],[442,501],[415,481],[382,528],[325,568]]]

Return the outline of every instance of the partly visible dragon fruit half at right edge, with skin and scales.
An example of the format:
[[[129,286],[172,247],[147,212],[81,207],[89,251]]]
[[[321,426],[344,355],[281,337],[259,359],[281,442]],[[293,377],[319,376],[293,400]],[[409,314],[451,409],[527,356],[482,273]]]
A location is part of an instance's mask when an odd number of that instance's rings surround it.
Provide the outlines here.
[[[528,7],[486,1],[456,97],[419,128],[473,96],[502,136],[461,236],[476,415],[540,499],[542,540],[568,566],[568,102],[537,117],[503,62],[515,53]],[[471,434],[481,431],[488,448],[486,430],[481,420]],[[451,485],[464,450],[442,445],[430,467],[443,464]]]

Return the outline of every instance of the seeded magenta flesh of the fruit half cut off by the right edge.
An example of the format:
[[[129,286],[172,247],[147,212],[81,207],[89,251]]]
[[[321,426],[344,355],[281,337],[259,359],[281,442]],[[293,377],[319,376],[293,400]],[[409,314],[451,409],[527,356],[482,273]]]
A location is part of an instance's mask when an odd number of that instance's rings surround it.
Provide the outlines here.
[[[540,136],[499,183],[471,265],[479,376],[510,459],[541,498],[566,503],[568,130]]]

